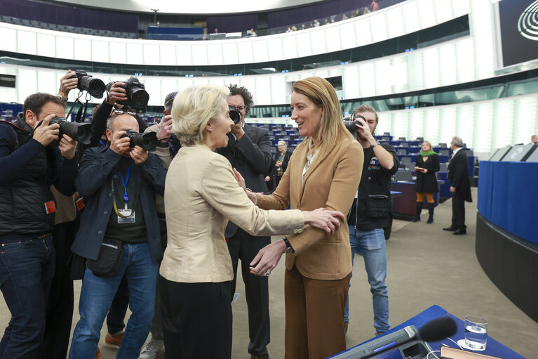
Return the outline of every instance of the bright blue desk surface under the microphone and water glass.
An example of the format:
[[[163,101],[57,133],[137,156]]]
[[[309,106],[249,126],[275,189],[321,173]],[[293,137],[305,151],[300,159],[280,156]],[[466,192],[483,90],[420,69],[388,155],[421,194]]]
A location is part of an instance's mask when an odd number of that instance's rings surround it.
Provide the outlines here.
[[[419,313],[419,314],[415,315],[413,318],[405,320],[405,322],[401,323],[401,325],[398,325],[398,326],[390,329],[385,334],[396,332],[397,330],[403,329],[404,327],[407,327],[408,325],[415,325],[415,327],[417,327],[417,329],[419,329],[420,327],[422,327],[422,325],[426,324],[430,320],[434,320],[436,318],[445,317],[445,316],[448,316],[448,317],[454,319],[456,324],[457,324],[457,333],[454,334],[451,337],[451,339],[454,340],[454,341],[458,341],[459,339],[463,339],[464,335],[465,335],[464,334],[464,322],[463,322],[463,320],[461,320],[461,319],[455,317],[454,315],[448,313],[447,311],[445,311],[445,309],[441,308],[440,306],[431,306],[431,307],[427,308],[422,313]],[[375,338],[369,339],[369,340],[365,341],[365,343],[370,341],[370,340],[373,340],[373,339],[375,339]],[[363,344],[363,343],[361,343],[361,344]],[[358,345],[361,345],[361,344],[358,344]],[[446,344],[448,346],[451,346],[452,348],[458,348],[457,345],[454,344],[449,339],[443,339],[442,341],[431,341],[431,342],[428,342],[428,344],[431,346],[431,348],[434,351],[441,350],[441,344]],[[523,355],[520,355],[520,354],[516,353],[511,348],[509,348],[507,346],[504,346],[503,344],[499,343],[499,341],[496,341],[495,339],[493,339],[492,337],[489,337],[489,336],[487,337],[487,344],[486,344],[485,351],[477,351],[476,353],[494,355],[494,356],[498,356],[500,358],[505,358],[505,359],[520,359],[520,358],[525,359],[525,357],[523,357]],[[438,353],[436,353],[436,354],[438,355]]]

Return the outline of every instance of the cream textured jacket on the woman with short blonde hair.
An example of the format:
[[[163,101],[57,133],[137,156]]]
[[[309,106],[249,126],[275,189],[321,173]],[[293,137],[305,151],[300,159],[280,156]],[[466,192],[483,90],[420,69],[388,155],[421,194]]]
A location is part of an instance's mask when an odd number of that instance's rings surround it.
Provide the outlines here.
[[[206,145],[182,147],[166,176],[168,247],[161,275],[174,282],[224,282],[234,273],[224,229],[234,221],[250,235],[302,231],[295,211],[264,211],[248,200],[229,161]]]

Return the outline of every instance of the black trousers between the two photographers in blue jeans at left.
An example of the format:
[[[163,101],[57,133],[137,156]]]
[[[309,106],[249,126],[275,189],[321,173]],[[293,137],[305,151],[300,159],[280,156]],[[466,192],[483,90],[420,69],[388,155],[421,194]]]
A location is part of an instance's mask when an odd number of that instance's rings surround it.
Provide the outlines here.
[[[77,222],[58,223],[53,230],[55,273],[48,295],[43,358],[65,359],[73,320],[73,280],[68,265]]]

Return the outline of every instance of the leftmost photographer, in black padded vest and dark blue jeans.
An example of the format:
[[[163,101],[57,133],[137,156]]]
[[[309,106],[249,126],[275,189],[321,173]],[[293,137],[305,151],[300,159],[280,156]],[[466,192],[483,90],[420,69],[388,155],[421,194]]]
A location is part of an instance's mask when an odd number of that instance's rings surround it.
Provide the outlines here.
[[[75,192],[76,142],[53,117],[65,117],[65,102],[48,93],[25,100],[15,122],[0,122],[0,275],[11,320],[0,358],[43,358],[48,292],[55,270],[54,184]],[[53,141],[59,142],[51,144]]]

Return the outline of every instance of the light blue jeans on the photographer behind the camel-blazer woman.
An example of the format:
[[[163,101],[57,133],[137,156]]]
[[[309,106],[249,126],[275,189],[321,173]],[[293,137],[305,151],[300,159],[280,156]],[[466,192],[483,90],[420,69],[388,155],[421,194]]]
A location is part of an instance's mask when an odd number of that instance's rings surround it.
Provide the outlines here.
[[[349,226],[349,244],[351,244],[351,263],[354,263],[358,249],[364,258],[364,266],[368,274],[370,292],[374,305],[374,327],[376,334],[390,329],[389,294],[386,291],[386,247],[382,228],[374,230],[357,230]],[[351,287],[351,281],[349,282]],[[344,309],[344,322],[349,322],[349,296]]]

